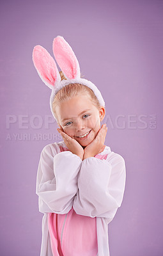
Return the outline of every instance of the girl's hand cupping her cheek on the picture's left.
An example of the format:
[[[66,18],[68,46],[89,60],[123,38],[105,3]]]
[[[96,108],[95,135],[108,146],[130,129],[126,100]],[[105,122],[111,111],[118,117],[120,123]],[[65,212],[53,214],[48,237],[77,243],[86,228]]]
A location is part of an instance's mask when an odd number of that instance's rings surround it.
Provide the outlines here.
[[[61,127],[61,125],[59,126],[60,129],[58,128],[57,131],[61,134],[63,140],[65,141],[66,147],[75,155],[81,157],[81,159],[84,156],[84,149],[82,148],[82,146],[73,138],[71,138],[70,136],[68,136],[68,134],[66,134],[63,131],[63,128]]]

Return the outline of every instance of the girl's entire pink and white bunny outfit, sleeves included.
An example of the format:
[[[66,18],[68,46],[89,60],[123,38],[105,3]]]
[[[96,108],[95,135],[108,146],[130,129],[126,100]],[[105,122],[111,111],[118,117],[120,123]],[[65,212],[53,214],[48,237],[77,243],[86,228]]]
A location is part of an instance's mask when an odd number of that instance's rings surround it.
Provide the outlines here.
[[[107,225],[123,200],[125,161],[105,146],[81,160],[65,142],[46,145],[36,179],[43,212],[40,256],[109,256]]]

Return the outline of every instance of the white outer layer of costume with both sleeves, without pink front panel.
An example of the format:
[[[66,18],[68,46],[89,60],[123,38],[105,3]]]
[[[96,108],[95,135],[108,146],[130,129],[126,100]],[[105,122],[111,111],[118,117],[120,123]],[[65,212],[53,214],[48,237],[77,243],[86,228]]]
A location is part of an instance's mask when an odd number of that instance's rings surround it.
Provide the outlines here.
[[[43,212],[40,256],[53,256],[48,212],[66,214],[72,207],[77,214],[97,217],[97,255],[109,256],[107,225],[121,206],[125,180],[125,161],[110,147],[82,161],[64,141],[46,145],[36,177],[39,211]]]

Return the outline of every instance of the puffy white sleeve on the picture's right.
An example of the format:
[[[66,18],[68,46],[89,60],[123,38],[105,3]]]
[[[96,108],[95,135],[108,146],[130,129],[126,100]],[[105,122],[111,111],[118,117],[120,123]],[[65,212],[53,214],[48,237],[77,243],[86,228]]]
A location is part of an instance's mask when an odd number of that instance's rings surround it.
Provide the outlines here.
[[[112,153],[108,159],[89,157],[82,161],[78,177],[74,211],[90,217],[113,220],[123,200],[125,189],[125,161]]]

